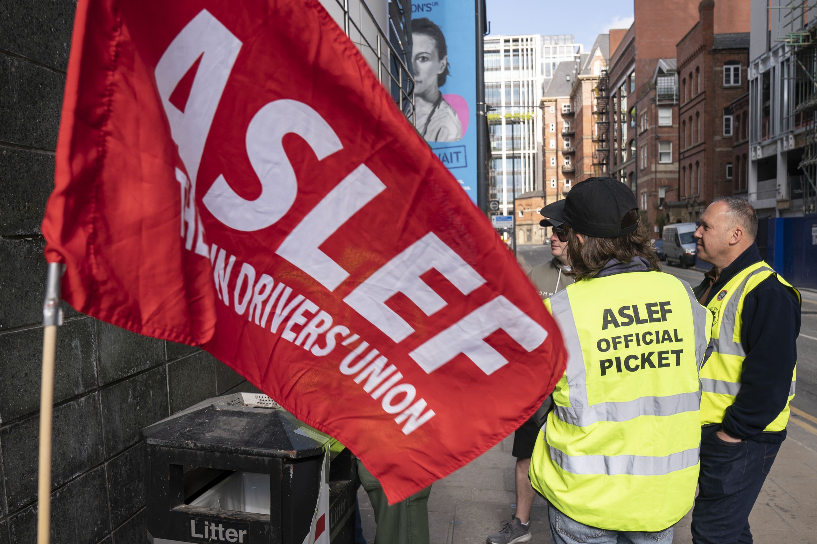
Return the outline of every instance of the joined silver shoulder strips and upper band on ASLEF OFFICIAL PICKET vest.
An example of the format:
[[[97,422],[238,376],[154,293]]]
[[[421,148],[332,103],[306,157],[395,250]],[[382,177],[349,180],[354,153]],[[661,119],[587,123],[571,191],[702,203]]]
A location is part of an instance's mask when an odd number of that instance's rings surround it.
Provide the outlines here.
[[[685,286],[690,297],[695,331],[695,359],[700,370],[707,349],[706,312],[708,310],[695,299],[688,283],[678,281]],[[562,290],[551,297],[551,311],[562,332],[568,352],[565,377],[568,383],[570,406],[556,405],[554,407],[556,417],[561,421],[577,427],[586,427],[600,421],[623,422],[642,415],[670,416],[699,409],[699,391],[671,396],[642,396],[635,400],[601,402],[590,406],[587,400],[587,373],[584,355],[578,339],[573,309],[570,307],[568,290]]]

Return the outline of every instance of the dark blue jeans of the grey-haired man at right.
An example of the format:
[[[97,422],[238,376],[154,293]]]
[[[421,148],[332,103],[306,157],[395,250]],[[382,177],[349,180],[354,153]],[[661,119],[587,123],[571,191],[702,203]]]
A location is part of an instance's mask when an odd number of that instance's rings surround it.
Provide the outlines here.
[[[716,432],[703,436],[694,544],[752,544],[749,513],[779,449],[780,444],[753,440],[732,444]]]

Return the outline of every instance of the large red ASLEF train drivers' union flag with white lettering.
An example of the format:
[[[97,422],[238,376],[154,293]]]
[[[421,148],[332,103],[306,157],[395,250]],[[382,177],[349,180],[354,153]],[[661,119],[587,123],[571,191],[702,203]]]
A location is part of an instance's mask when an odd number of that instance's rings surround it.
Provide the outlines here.
[[[314,0],[81,0],[42,232],[79,311],[202,345],[392,502],[565,369],[488,219]]]

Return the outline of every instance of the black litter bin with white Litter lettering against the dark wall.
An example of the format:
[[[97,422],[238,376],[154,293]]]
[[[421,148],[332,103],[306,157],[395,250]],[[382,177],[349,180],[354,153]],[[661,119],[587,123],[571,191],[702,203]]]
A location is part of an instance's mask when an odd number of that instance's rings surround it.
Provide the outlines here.
[[[205,400],[142,433],[152,544],[303,544],[313,520],[324,542],[355,541],[354,456],[269,396]]]

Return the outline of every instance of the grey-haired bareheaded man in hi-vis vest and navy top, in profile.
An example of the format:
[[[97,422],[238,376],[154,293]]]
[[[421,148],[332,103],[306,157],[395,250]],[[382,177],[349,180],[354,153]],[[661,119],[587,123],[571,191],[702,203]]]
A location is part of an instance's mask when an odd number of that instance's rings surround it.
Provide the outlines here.
[[[715,316],[712,356],[701,370],[701,474],[692,541],[751,544],[749,512],[786,438],[797,378],[800,293],[763,262],[757,214],[721,197],[695,231],[715,268],[695,289]]]

